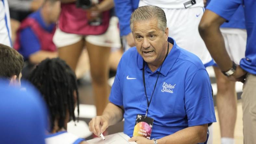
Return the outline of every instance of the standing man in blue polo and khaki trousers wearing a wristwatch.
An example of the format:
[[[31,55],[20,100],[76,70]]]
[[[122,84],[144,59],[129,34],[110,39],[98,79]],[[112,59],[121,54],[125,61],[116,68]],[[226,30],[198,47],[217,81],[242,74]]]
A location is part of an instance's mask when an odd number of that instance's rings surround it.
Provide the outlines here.
[[[201,37],[221,71],[230,80],[244,82],[242,98],[244,143],[256,143],[256,1],[212,0],[199,25]],[[230,20],[239,6],[244,6],[247,45],[239,66],[226,52],[219,27]]]

